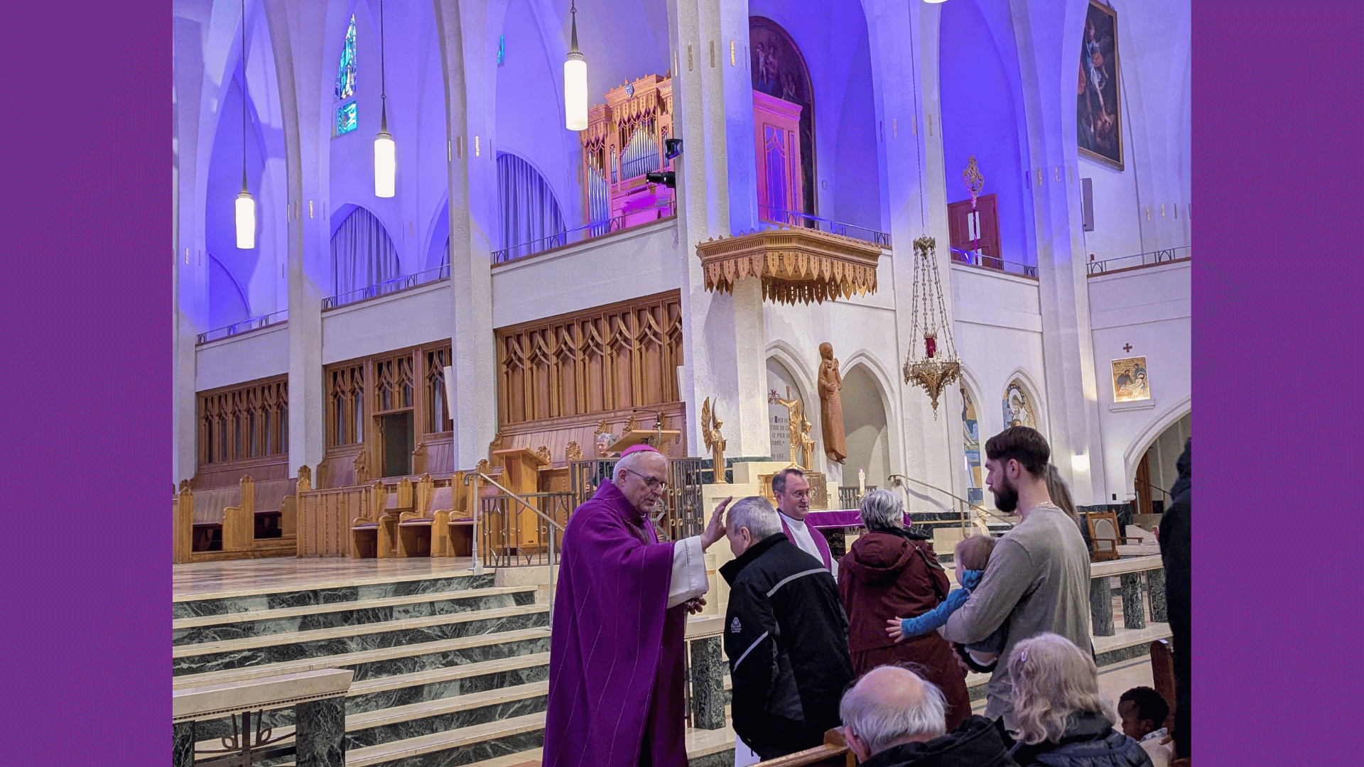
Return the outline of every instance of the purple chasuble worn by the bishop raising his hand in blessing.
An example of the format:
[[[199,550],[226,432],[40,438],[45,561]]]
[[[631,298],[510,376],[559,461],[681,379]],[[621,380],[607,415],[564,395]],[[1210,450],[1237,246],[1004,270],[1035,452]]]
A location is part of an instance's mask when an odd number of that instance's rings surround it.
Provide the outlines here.
[[[672,543],[606,480],[569,519],[559,565],[544,767],[686,767]]]

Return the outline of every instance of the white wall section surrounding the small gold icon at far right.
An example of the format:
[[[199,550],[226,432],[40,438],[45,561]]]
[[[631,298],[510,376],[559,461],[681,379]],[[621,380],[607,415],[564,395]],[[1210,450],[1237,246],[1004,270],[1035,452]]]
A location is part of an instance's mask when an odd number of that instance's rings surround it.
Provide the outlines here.
[[[1172,423],[1189,412],[1192,317],[1189,262],[1090,277],[1090,322],[1103,482],[1108,502],[1133,497],[1142,454]],[[1131,344],[1131,351],[1124,349]],[[1144,356],[1148,403],[1113,403],[1110,360]],[[1177,457],[1177,454],[1176,454]]]

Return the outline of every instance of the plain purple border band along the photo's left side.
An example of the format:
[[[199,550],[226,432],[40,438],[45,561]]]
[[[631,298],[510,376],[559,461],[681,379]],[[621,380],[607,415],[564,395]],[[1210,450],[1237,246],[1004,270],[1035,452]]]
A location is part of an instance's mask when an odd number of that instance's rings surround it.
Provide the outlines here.
[[[170,757],[169,11],[0,14],[7,764]]]

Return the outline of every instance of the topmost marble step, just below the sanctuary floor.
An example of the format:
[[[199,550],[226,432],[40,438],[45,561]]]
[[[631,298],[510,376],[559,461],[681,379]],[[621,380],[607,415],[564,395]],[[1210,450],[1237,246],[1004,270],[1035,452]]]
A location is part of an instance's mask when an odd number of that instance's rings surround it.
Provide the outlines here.
[[[176,596],[172,602],[172,618],[192,618],[198,616],[226,616],[254,610],[281,610],[307,605],[331,602],[359,602],[364,599],[386,599],[435,594],[465,588],[487,588],[494,584],[494,575],[446,575],[423,573],[412,576],[375,576],[367,579],[337,579],[293,588],[251,588],[194,594]]]

